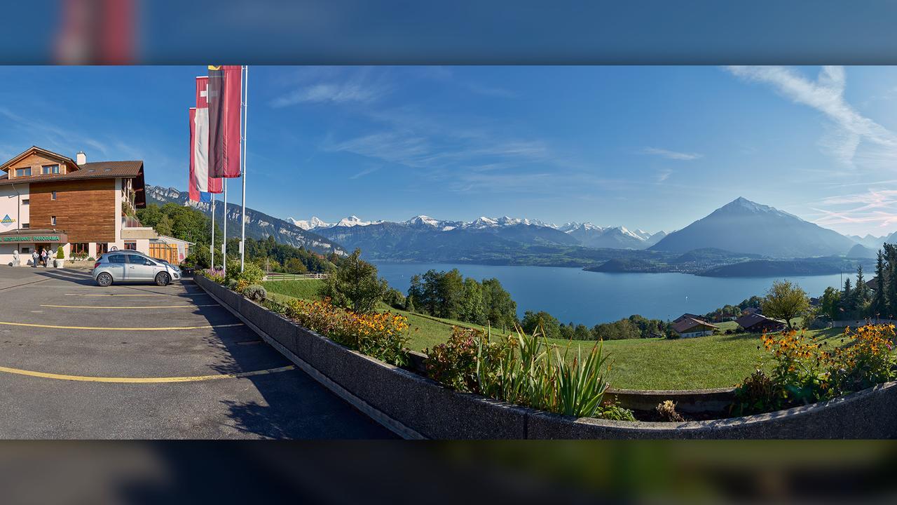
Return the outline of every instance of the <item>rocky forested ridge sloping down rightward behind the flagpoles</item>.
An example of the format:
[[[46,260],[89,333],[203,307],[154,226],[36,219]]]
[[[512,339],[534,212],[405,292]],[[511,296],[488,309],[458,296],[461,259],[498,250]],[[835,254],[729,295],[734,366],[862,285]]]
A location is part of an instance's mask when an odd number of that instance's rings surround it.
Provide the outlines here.
[[[174,188],[147,185],[146,203],[155,203],[160,206],[165,205],[166,203],[190,205],[193,208],[203,211],[207,216],[211,215],[211,204],[209,202],[191,202],[188,200],[187,191],[179,191]],[[221,205],[221,202],[217,202],[215,205],[215,222],[218,226],[221,226],[223,223]],[[241,210],[239,205],[234,205],[232,203],[227,205],[227,223],[229,231],[239,230],[239,216]],[[239,234],[231,232],[229,235],[236,236]],[[261,240],[268,235],[274,235],[274,240],[279,243],[290,244],[296,247],[305,247],[306,249],[309,249],[309,251],[314,251],[320,254],[345,254],[343,247],[321,235],[304,230],[283,219],[268,216],[263,212],[247,208],[246,236]]]

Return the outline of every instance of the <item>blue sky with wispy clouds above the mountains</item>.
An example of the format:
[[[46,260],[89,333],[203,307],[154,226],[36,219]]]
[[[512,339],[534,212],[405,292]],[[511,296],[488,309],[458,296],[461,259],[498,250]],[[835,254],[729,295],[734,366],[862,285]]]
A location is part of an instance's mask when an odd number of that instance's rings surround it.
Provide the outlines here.
[[[0,67],[0,157],[143,159],[184,190],[202,73]],[[743,196],[897,230],[897,67],[252,66],[248,121],[248,205],[277,217],[670,231]]]

